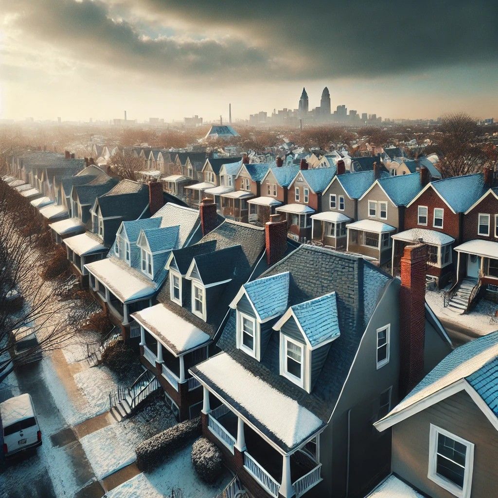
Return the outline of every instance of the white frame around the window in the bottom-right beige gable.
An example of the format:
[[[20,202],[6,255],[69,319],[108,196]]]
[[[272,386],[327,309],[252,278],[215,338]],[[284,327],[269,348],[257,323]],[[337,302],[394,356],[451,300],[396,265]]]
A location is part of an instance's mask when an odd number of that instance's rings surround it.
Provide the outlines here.
[[[464,471],[464,485],[463,488],[460,488],[452,481],[440,476],[437,470],[437,443],[438,443],[438,435],[441,434],[443,436],[449,437],[458,443],[466,446],[467,451],[465,455],[465,471]],[[450,492],[452,495],[455,495],[458,498],[470,498],[471,495],[471,487],[472,487],[472,472],[474,470],[474,443],[467,441],[451,432],[438,427],[437,425],[430,425],[429,432],[429,471],[427,473],[428,479],[432,482],[436,483],[441,488]]]

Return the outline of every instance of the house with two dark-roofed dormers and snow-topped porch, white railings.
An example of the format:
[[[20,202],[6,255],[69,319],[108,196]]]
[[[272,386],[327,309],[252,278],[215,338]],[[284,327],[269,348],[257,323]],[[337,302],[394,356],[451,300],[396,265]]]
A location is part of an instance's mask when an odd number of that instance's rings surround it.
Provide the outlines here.
[[[240,286],[287,250],[282,223],[262,229],[225,220],[215,226],[216,205],[205,201],[201,212],[206,235],[171,253],[158,303],[133,314],[141,327],[142,364],[159,379],[179,420],[199,415],[203,391],[189,370],[212,354]]]

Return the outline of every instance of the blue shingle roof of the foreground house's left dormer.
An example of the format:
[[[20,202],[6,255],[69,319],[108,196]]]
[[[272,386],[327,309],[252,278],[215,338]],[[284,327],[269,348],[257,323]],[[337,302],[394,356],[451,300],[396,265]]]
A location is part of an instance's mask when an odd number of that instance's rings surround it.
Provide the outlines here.
[[[258,278],[244,285],[259,318],[280,315],[287,309],[289,272]]]

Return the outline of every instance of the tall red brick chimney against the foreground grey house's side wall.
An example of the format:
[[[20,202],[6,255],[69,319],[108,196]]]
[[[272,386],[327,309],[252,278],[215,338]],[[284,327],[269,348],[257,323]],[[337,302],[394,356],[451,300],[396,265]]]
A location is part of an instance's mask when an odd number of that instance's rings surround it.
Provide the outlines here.
[[[399,289],[399,389],[405,396],[424,375],[427,246],[407,246]]]

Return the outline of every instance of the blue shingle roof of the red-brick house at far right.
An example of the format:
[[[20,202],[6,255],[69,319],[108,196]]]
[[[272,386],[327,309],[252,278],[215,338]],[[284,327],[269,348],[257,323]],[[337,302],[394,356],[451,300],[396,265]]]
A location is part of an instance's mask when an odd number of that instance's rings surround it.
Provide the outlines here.
[[[482,173],[437,180],[432,186],[455,213],[465,213],[486,191]]]

